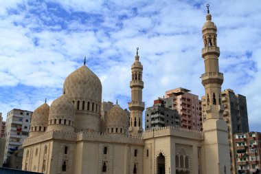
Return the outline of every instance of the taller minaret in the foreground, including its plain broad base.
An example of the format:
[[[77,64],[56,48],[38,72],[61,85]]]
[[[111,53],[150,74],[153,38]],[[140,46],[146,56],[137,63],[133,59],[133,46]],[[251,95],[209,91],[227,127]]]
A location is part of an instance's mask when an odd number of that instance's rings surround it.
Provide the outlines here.
[[[204,155],[203,173],[228,174],[230,171],[229,140],[227,124],[223,120],[223,105],[221,100],[221,85],[223,74],[219,72],[218,56],[219,47],[216,42],[216,25],[212,22],[212,15],[209,14],[207,4],[207,21],[203,25],[202,57],[205,63],[205,74],[201,80],[205,87],[205,113],[206,120],[203,122],[204,132]]]

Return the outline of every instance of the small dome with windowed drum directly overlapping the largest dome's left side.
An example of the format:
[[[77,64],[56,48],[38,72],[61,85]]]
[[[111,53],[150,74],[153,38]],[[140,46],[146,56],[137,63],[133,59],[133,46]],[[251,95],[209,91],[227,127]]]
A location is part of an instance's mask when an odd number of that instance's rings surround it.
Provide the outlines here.
[[[75,109],[73,102],[66,95],[60,96],[52,102],[49,111],[48,130],[65,129],[69,126],[69,130],[73,130]]]

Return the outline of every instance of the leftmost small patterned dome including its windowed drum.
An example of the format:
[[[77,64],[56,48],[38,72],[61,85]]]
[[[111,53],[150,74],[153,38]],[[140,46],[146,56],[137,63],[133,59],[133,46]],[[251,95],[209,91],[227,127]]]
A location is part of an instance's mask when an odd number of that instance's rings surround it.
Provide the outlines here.
[[[46,131],[49,116],[49,105],[44,103],[40,107],[34,110],[32,113],[32,120],[30,124],[30,136],[38,135],[43,131]]]

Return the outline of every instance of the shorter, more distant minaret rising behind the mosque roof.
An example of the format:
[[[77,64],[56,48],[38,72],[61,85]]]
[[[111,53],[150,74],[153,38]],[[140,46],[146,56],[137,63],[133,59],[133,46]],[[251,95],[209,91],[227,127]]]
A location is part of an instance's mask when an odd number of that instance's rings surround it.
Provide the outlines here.
[[[144,102],[142,102],[142,89],[144,83],[142,81],[143,66],[139,62],[139,47],[137,47],[137,55],[135,62],[131,65],[131,102],[128,103],[128,109],[131,111],[130,127],[128,131],[131,135],[141,135],[142,129],[142,111],[144,111]]]

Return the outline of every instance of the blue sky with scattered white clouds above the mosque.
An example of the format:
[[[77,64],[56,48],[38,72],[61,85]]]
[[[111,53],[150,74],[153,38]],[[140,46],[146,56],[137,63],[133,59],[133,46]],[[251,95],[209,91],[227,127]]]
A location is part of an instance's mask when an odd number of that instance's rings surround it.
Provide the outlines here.
[[[247,97],[250,131],[261,131],[261,1],[0,1],[0,112],[34,111],[58,98],[71,72],[87,66],[102,100],[127,108],[139,47],[146,107],[177,87],[205,94],[199,78],[209,3],[218,28],[224,89]]]

